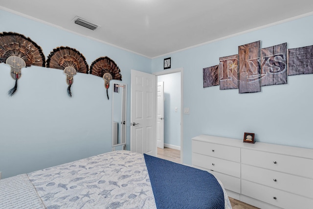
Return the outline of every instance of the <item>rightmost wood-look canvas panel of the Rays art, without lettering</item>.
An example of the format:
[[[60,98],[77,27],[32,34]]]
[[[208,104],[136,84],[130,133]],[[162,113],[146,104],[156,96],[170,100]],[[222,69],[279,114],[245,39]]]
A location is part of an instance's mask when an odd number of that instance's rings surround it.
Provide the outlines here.
[[[313,46],[288,49],[288,75],[313,73]]]

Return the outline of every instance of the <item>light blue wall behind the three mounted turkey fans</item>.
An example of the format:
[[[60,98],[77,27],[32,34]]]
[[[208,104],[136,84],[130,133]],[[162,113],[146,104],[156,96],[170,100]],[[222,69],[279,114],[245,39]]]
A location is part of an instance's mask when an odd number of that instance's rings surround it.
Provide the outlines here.
[[[81,52],[90,65],[108,56],[121,69],[122,83],[130,85],[131,69],[151,71],[151,59],[0,10],[0,32],[17,32],[42,47],[45,57],[58,46]],[[67,96],[62,70],[22,69],[18,91],[10,68],[0,64],[0,171],[2,178],[111,151],[112,100],[101,77],[77,73]],[[111,81],[112,83],[112,81]],[[109,97],[112,98],[112,85]],[[130,95],[130,88],[128,88]],[[129,98],[129,97],[128,97]],[[128,101],[128,120],[130,100]],[[129,122],[129,121],[128,121]],[[130,127],[127,129],[127,149]]]

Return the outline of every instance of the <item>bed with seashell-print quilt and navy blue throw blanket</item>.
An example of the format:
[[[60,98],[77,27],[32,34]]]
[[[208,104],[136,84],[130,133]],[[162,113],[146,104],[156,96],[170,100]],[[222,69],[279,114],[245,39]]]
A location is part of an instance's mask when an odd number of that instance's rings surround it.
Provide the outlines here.
[[[0,209],[231,209],[222,183],[193,167],[113,151],[0,180]]]

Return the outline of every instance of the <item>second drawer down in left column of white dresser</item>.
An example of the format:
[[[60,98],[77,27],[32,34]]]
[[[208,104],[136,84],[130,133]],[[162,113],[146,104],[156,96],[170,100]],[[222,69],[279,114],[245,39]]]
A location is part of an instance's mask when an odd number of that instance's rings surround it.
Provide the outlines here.
[[[192,165],[240,178],[240,163],[192,153]]]

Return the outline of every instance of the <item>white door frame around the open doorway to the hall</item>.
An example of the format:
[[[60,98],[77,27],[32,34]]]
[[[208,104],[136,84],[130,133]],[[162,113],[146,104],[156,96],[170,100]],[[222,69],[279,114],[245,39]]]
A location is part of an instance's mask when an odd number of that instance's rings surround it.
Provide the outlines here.
[[[158,75],[166,75],[172,74],[175,72],[180,72],[180,163],[182,163],[182,152],[183,152],[183,68],[173,69],[173,70],[164,70],[159,72],[154,72],[152,74],[156,75],[156,93],[157,93],[157,76]],[[156,101],[157,105],[157,101]],[[156,109],[157,115],[157,109]],[[156,116],[157,118],[157,116]],[[157,153],[157,146],[156,146],[156,153]]]

